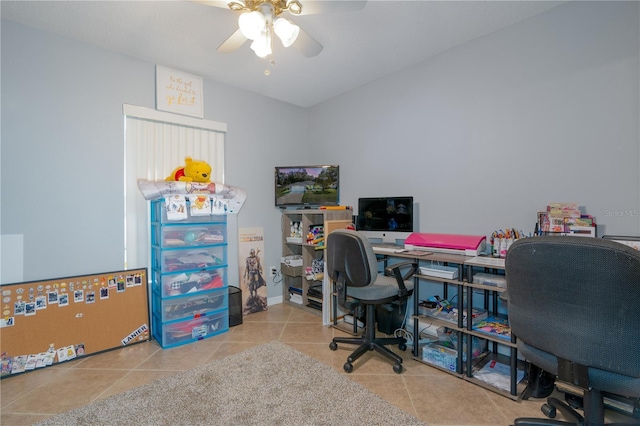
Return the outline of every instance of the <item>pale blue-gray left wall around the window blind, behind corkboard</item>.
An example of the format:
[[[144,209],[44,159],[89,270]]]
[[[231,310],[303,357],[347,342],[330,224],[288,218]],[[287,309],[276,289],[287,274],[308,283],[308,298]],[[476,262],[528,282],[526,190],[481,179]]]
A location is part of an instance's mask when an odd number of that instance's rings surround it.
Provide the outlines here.
[[[122,269],[122,104],[154,108],[155,64],[5,20],[1,30],[1,233],[24,238],[24,280]],[[227,123],[225,181],[249,195],[238,225],[262,227],[264,266],[279,265],[273,168],[304,161],[308,112],[214,81],[204,105]]]

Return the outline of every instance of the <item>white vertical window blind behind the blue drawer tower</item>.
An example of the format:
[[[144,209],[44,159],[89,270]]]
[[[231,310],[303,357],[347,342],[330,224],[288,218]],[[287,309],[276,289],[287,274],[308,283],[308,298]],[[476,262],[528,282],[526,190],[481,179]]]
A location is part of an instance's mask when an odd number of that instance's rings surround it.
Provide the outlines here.
[[[150,203],[138,179],[164,180],[185,157],[211,166],[211,180],[224,183],[225,123],[124,105],[125,268],[149,267]]]

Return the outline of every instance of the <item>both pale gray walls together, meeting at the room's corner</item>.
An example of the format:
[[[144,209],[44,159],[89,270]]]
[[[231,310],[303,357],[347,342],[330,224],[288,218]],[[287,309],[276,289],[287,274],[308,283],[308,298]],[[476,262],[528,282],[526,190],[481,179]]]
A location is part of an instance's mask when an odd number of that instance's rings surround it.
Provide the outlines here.
[[[574,201],[640,235],[638,18],[637,2],[569,3],[309,109],[206,80],[226,183],[249,194],[239,226],[264,228],[277,265],[273,167],[338,163],[343,204],[413,195],[425,232],[530,231]],[[1,31],[0,230],[24,236],[24,279],[121,269],[122,104],[153,108],[155,64]]]

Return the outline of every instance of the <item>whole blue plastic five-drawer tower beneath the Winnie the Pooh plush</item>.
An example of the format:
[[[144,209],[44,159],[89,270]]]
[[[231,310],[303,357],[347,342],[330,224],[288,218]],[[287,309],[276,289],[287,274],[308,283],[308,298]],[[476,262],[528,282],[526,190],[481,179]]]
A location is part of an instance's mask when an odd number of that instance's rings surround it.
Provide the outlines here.
[[[168,220],[164,200],[151,202],[151,334],[163,348],[229,330],[227,247],[226,215]]]

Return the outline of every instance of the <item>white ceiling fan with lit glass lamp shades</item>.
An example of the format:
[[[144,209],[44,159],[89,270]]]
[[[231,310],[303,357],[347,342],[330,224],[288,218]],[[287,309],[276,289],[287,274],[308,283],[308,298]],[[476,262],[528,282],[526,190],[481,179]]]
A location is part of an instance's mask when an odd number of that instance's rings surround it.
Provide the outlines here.
[[[274,34],[284,47],[293,46],[307,58],[318,55],[323,46],[290,20],[281,17],[284,12],[291,15],[359,10],[366,0],[313,1],[313,0],[195,0],[209,6],[229,8],[242,12],[238,18],[238,29],[231,34],[217,51],[229,53],[251,40],[251,49],[261,58],[271,55]]]

